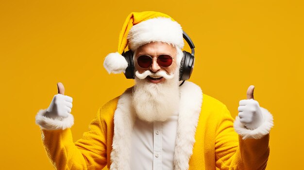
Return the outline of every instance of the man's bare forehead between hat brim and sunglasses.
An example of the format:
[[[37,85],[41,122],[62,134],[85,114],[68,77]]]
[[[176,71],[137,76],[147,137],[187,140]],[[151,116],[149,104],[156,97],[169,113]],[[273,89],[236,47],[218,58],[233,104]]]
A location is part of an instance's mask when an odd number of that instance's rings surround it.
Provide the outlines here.
[[[173,54],[175,52],[175,47],[168,43],[163,42],[152,42],[140,46],[136,50],[136,55],[142,54]]]

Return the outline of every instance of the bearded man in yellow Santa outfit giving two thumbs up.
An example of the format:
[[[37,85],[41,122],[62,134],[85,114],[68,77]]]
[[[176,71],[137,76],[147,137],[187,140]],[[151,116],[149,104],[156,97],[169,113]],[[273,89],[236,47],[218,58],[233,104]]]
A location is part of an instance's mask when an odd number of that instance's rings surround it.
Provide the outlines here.
[[[186,81],[180,85],[183,30],[170,16],[131,13],[109,54],[109,73],[125,72],[121,54],[132,51],[135,86],[99,109],[90,130],[75,143],[70,127],[72,98],[58,83],[48,109],[36,124],[58,170],[263,170],[269,156],[271,114],[253,99],[239,102],[235,122],[220,101]],[[236,133],[236,132],[237,133]]]

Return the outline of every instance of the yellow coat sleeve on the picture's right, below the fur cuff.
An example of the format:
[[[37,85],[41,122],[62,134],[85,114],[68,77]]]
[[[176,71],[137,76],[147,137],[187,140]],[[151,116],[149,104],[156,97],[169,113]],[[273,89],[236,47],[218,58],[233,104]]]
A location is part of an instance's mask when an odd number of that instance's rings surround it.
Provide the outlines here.
[[[269,135],[242,139],[233,127],[233,118],[224,106],[216,131],[216,167],[220,170],[265,170],[269,156]]]

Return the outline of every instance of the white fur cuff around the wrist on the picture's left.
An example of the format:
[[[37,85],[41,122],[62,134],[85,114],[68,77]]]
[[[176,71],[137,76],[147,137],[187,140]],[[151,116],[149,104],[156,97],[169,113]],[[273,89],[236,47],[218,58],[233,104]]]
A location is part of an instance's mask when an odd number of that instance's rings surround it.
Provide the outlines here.
[[[72,114],[68,114],[67,118],[51,119],[45,116],[47,109],[41,109],[36,115],[36,124],[45,130],[58,130],[67,129],[74,124],[74,117]]]

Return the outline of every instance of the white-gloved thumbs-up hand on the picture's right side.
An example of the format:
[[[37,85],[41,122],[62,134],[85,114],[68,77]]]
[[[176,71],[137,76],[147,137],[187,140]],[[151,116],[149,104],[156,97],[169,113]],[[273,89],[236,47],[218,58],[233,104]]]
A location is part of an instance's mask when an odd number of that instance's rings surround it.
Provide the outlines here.
[[[254,86],[249,86],[247,90],[247,99],[239,101],[238,117],[241,124],[247,129],[253,130],[264,122],[264,115],[259,103],[253,97]]]

